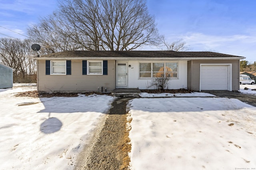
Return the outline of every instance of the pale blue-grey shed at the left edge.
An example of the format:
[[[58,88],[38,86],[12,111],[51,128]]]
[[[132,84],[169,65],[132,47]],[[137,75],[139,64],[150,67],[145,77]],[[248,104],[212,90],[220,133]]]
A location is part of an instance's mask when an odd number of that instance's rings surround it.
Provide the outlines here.
[[[12,88],[12,72],[14,68],[0,63],[0,88]]]

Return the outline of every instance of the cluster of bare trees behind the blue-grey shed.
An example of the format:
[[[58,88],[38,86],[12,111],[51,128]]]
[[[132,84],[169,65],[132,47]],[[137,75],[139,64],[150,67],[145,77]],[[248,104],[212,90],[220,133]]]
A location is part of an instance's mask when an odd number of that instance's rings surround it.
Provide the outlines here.
[[[0,38],[0,62],[15,69],[14,82],[18,76],[36,73],[36,62],[30,58],[30,43],[27,40]]]

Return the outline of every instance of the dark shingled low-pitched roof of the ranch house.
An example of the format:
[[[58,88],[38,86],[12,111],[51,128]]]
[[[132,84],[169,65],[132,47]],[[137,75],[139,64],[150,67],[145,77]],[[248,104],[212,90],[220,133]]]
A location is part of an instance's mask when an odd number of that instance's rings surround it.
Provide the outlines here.
[[[244,59],[245,57],[228,55],[214,52],[177,52],[177,51],[63,51],[43,55],[40,58],[222,58],[222,59]]]

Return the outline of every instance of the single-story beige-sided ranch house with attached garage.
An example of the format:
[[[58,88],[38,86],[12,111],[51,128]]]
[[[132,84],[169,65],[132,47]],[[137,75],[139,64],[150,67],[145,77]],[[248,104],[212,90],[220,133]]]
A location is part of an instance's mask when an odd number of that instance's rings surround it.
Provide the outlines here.
[[[63,51],[35,59],[38,92],[152,89],[150,83],[159,75],[170,77],[169,89],[236,91],[240,59],[245,57],[214,52]]]

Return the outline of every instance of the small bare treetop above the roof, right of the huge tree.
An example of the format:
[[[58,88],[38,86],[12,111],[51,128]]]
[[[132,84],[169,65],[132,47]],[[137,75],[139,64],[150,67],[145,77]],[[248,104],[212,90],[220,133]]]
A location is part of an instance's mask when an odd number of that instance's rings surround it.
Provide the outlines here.
[[[188,51],[191,50],[189,46],[183,41],[183,39],[178,39],[172,43],[166,42],[164,36],[161,37],[162,46],[166,47],[167,51]]]

